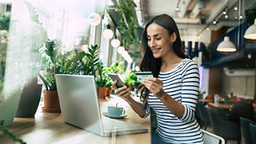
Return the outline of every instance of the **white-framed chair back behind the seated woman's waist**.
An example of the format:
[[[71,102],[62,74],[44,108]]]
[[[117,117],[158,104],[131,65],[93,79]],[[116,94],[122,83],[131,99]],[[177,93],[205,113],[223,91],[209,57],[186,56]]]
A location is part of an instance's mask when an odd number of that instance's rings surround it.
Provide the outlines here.
[[[221,136],[216,136],[209,131],[201,131],[203,133],[204,141],[206,144],[225,144],[225,140]]]

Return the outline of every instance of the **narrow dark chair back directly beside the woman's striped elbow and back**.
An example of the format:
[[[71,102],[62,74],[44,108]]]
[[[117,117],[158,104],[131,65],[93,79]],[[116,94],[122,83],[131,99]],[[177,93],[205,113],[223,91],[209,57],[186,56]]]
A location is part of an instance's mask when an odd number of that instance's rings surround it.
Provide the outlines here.
[[[200,115],[200,120],[202,120],[204,123],[203,124],[205,126],[204,130],[206,130],[207,126],[210,124],[207,109],[205,108],[205,105],[200,102],[198,102],[196,106],[197,106],[198,113]]]

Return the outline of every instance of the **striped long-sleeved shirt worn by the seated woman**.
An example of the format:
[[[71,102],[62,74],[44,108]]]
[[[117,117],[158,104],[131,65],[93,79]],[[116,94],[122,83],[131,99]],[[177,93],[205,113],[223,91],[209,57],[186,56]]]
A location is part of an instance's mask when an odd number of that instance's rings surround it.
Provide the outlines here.
[[[157,114],[157,134],[163,141],[172,143],[204,143],[200,125],[195,120],[195,106],[198,99],[199,71],[195,61],[184,59],[169,72],[160,72],[163,91],[184,105],[181,119],[173,115],[152,93],[147,101],[147,117],[151,107]]]

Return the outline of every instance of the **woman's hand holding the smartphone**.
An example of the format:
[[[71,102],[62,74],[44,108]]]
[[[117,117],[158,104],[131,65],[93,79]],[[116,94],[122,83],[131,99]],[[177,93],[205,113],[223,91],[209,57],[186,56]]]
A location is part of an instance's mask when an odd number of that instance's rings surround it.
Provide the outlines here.
[[[130,89],[127,88],[126,86],[124,86],[122,88],[117,88],[116,83],[117,83],[117,80],[115,80],[115,82],[113,83],[114,88],[115,88],[115,94],[120,96],[120,98],[125,99],[125,101],[127,101],[129,98],[131,98]]]

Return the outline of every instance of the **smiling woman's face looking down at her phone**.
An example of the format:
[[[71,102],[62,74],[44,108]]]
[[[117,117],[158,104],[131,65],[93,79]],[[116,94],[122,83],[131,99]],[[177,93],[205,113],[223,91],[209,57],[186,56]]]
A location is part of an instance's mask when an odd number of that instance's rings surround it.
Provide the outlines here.
[[[167,56],[171,52],[173,35],[158,24],[150,24],[147,27],[147,45],[155,58]]]

